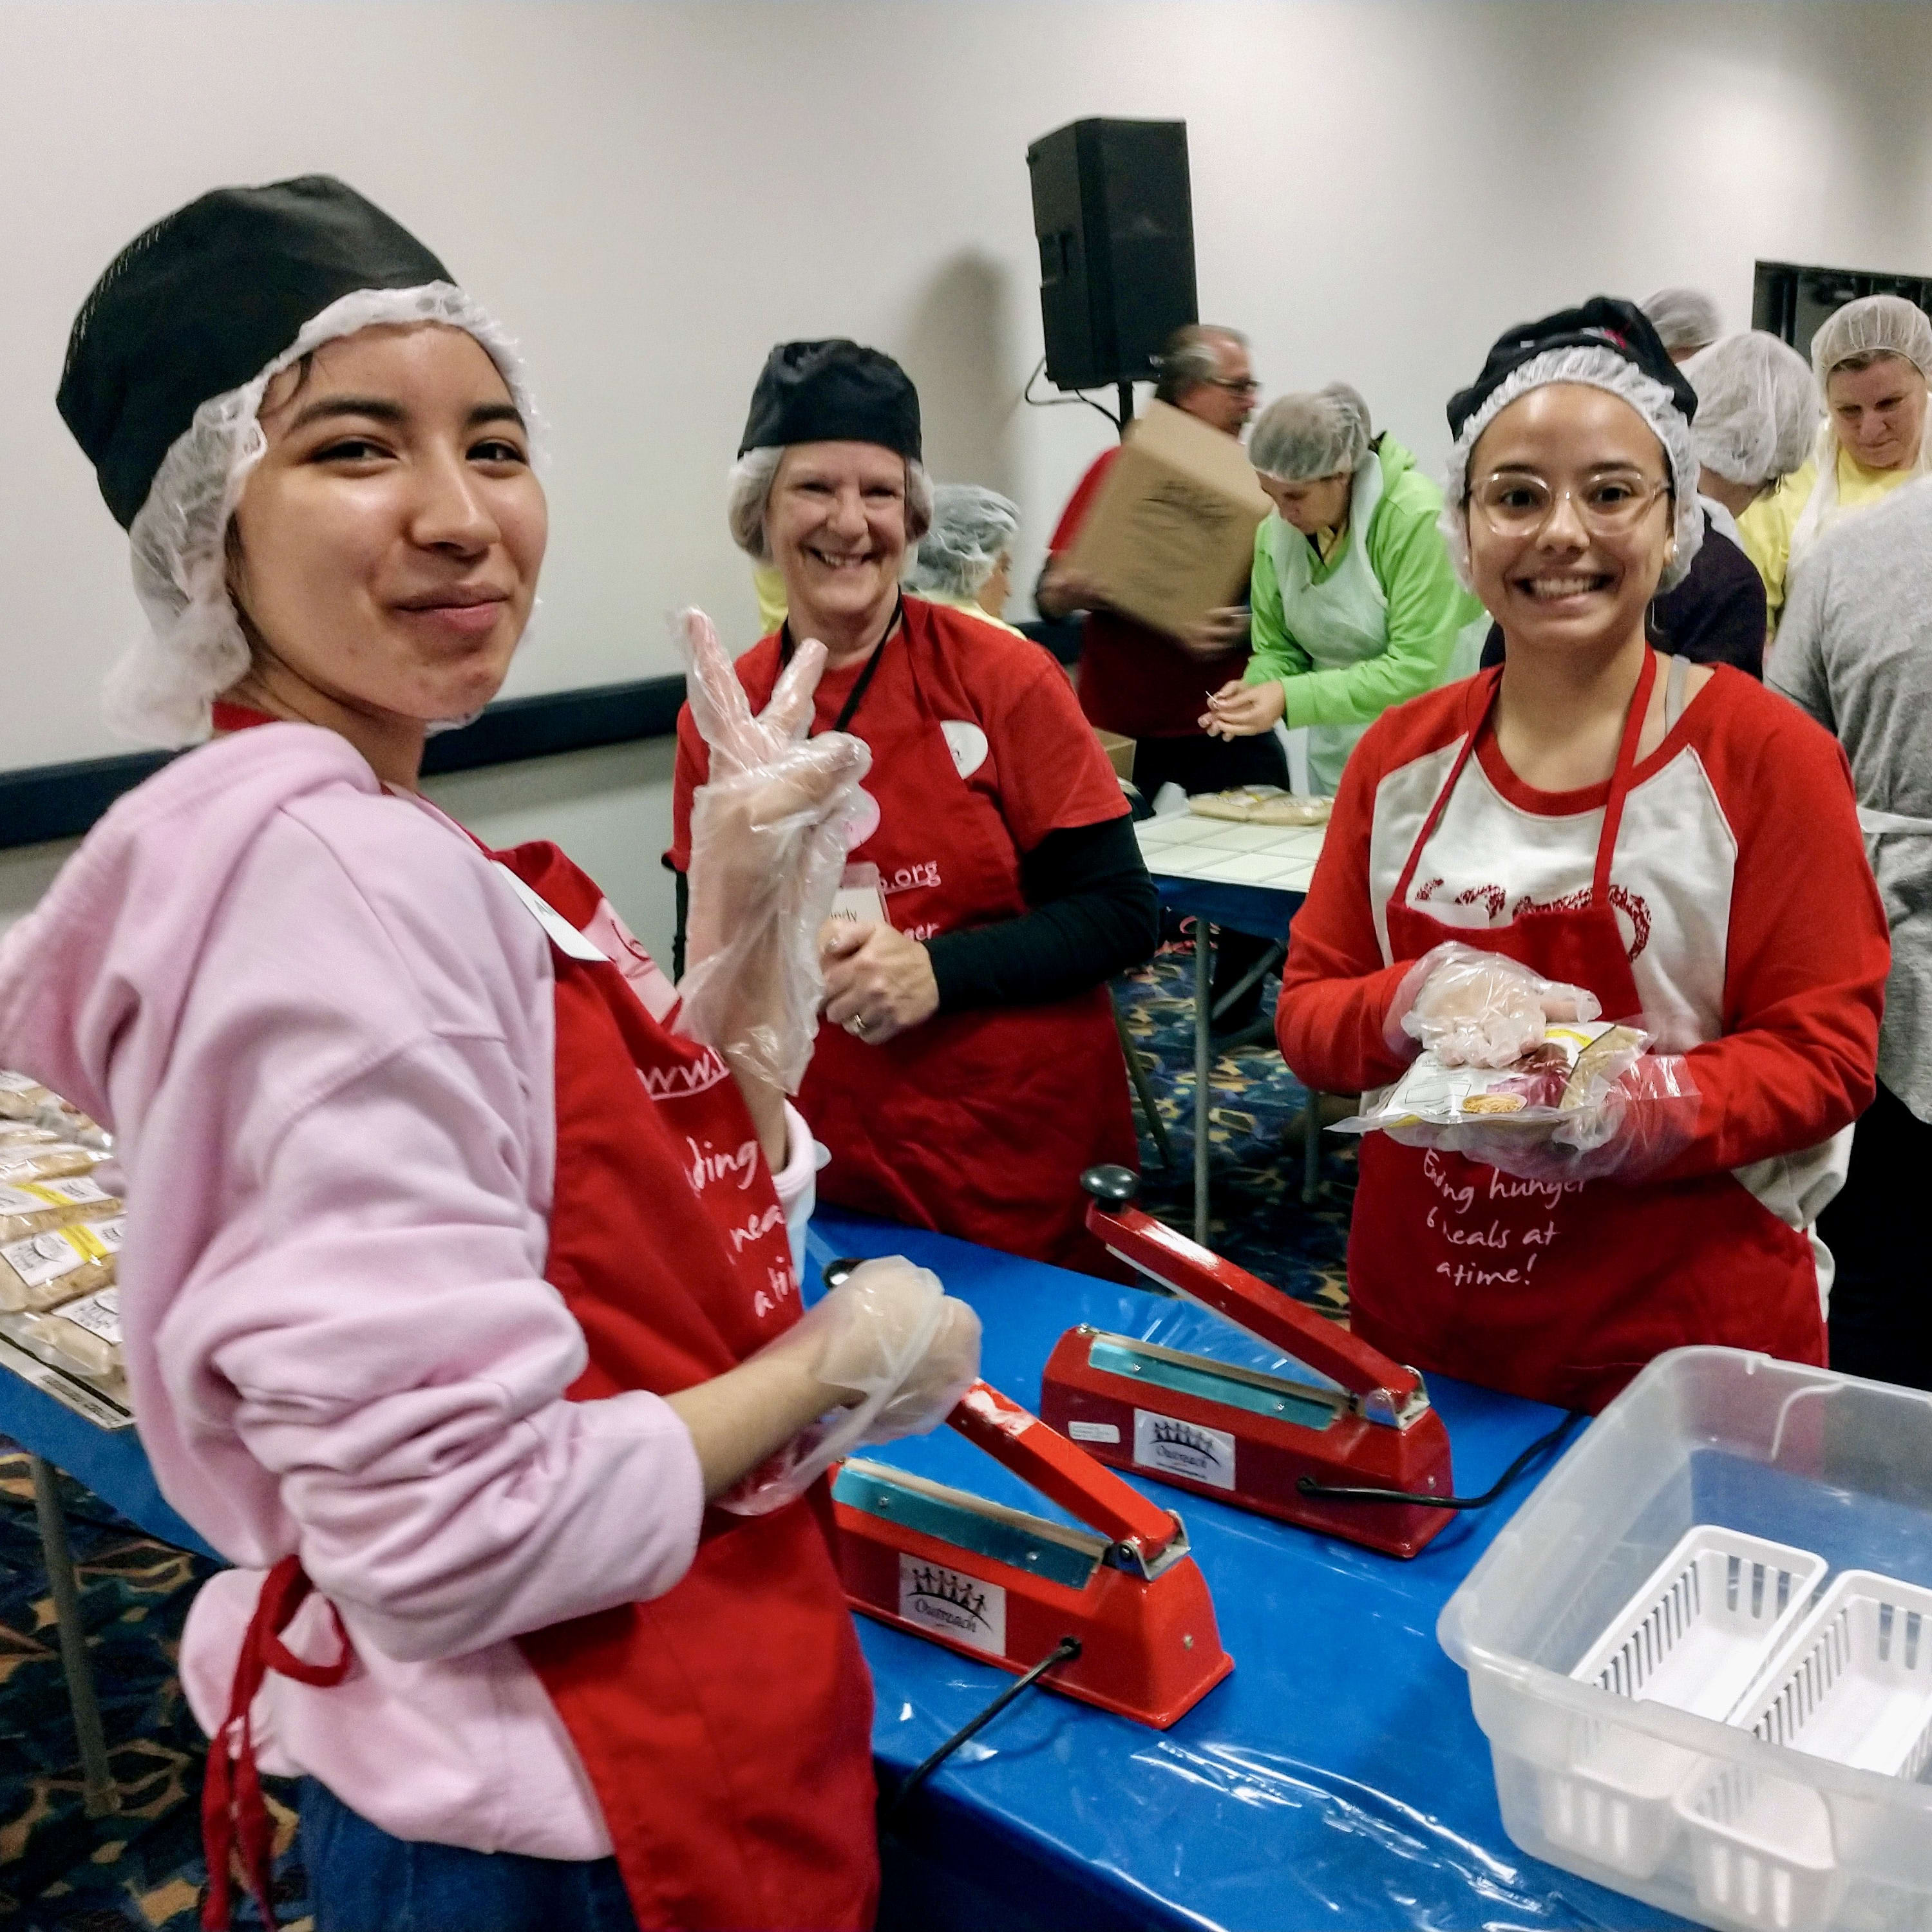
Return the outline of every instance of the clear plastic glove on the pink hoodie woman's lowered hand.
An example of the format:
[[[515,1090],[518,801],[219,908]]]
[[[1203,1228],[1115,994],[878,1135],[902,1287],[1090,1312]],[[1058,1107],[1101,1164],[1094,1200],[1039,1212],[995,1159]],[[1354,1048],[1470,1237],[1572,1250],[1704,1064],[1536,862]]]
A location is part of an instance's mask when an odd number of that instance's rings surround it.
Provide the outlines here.
[[[854,1449],[939,1428],[980,1378],[980,1318],[929,1267],[895,1254],[854,1267],[765,1352],[781,1349],[852,1401],[719,1497],[738,1517],[782,1509]]]

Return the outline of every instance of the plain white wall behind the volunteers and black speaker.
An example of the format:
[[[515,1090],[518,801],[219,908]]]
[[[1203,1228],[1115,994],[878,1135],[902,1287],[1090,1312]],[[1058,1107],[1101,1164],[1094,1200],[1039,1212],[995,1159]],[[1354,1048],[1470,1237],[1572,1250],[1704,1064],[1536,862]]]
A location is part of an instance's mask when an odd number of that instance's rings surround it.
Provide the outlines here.
[[[682,601],[750,641],[721,479],[782,336],[898,354],[935,471],[1020,498],[1030,582],[1109,437],[1018,402],[1024,149],[1076,116],[1186,118],[1202,313],[1271,390],[1356,383],[1428,464],[1520,317],[1698,280],[1743,325],[1754,257],[1932,270],[1920,4],[0,0],[0,77],[4,663],[31,692],[0,769],[112,750],[126,551],[52,392],[95,274],[216,182],[346,176],[524,338],[553,547],[512,692],[674,668]]]

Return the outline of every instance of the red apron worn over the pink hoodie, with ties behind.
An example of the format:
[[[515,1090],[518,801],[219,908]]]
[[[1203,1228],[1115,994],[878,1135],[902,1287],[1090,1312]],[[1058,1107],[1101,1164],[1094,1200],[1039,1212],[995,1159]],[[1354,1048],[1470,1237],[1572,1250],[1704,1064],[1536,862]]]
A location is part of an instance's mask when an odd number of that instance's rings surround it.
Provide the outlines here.
[[[498,856],[568,923],[595,916],[597,887],[556,846]],[[674,1393],[798,1320],[784,1215],[724,1063],[659,1026],[616,966],[556,947],[553,958],[556,1188],[545,1277],[589,1343],[570,1397]],[[823,1511],[821,1486],[769,1517],[711,1513],[690,1573],[665,1596],[522,1638],[647,1932],[871,1924],[871,1685]],[[270,1573],[232,1721],[265,1669],[299,1663],[276,1638],[305,1586],[294,1557]],[[247,1803],[253,1764],[243,1750],[230,1774],[216,1743],[203,1804],[205,1922],[226,1922],[230,1781],[243,1861],[251,1876],[267,1874],[265,1820],[257,1826]]]

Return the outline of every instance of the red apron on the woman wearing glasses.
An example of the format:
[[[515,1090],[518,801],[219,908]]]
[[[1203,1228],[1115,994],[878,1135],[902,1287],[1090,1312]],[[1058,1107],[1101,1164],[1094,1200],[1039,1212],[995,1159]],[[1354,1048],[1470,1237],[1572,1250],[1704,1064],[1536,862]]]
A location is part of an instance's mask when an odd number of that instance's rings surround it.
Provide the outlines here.
[[[1416,862],[1488,728],[1501,670],[1470,680],[1470,728],[1387,904],[1389,956],[1447,939],[1584,985],[1609,1018],[1642,1009],[1609,904],[1609,866],[1636,765],[1656,653],[1631,699],[1604,804],[1590,902],[1507,925],[1445,925],[1408,904]],[[1824,1364],[1810,1242],[1733,1175],[1687,1180],[1517,1180],[1461,1153],[1362,1140],[1349,1229],[1358,1335],[1439,1370],[1565,1408],[1602,1408],[1652,1356],[1687,1343]]]

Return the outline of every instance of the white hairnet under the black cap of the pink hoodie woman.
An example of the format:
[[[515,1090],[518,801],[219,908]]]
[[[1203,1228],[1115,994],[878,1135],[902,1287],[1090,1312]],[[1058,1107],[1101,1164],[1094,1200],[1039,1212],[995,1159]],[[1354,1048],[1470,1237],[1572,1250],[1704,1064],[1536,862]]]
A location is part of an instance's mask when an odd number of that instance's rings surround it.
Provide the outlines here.
[[[228,520],[269,448],[261,398],[276,375],[325,342],[383,323],[446,323],[475,336],[535,431],[514,344],[460,288],[363,288],[328,303],[253,381],[201,404],[160,460],[128,529],[147,632],[108,672],[102,709],[114,730],[170,746],[207,736],[209,705],[249,667],[228,597]]]

